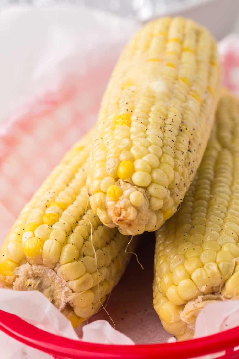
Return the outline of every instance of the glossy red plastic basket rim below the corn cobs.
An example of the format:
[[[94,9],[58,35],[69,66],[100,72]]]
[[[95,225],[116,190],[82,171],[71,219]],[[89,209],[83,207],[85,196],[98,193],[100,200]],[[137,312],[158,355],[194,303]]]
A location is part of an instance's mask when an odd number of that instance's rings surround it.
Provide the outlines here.
[[[239,326],[199,339],[176,343],[108,345],[77,341],[50,334],[14,314],[0,310],[0,329],[14,339],[46,353],[68,358],[192,358],[230,349],[239,344]],[[143,330],[143,328],[142,328]]]

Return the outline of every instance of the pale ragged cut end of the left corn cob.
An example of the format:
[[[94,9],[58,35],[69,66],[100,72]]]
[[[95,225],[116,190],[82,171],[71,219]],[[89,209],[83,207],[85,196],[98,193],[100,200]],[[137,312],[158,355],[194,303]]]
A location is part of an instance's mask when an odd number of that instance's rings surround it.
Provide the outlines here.
[[[71,290],[66,286],[66,281],[59,278],[54,270],[26,263],[16,268],[14,273],[18,277],[13,283],[13,289],[38,290],[60,311],[70,302]]]

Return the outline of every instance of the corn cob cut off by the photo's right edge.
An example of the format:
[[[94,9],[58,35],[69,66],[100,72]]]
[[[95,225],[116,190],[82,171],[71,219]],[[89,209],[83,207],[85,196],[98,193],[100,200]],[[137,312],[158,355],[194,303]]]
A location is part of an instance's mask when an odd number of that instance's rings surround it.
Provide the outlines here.
[[[214,300],[239,295],[239,99],[224,93],[180,210],[156,232],[154,309],[179,339]]]

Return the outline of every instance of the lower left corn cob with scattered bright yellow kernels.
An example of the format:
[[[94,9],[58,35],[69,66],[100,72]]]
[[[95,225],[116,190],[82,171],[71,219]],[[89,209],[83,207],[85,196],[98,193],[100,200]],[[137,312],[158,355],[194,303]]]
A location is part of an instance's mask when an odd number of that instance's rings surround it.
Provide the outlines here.
[[[39,290],[60,310],[67,304],[64,313],[75,326],[100,309],[130,258],[125,253],[130,238],[102,225],[89,206],[85,182],[91,138],[92,133],[67,153],[0,249],[0,282]]]

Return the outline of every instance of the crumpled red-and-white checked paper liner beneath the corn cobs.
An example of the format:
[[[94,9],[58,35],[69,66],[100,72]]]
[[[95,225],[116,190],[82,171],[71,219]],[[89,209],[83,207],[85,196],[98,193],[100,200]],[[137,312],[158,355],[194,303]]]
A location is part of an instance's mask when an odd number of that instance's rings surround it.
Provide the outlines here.
[[[4,36],[0,38],[0,77],[4,85],[0,87],[0,243],[54,165],[95,122],[111,69],[136,28],[133,22],[113,15],[65,6],[15,8],[1,14],[0,33]],[[224,84],[235,93],[239,92],[239,81],[235,81],[239,69],[236,41],[228,39],[220,46]],[[153,234],[144,234],[138,250],[145,269],[133,257],[111,293],[107,311],[118,331],[101,310],[77,331],[83,340],[114,344],[170,340],[152,304],[153,238]],[[27,306],[26,301],[30,301]],[[218,304],[223,307],[223,317],[218,325],[205,327],[205,318],[207,322],[219,318],[214,307]],[[42,318],[33,311],[36,306]],[[207,308],[197,321],[197,337],[238,324],[238,302],[215,303],[213,310]],[[77,339],[66,318],[40,293],[0,289],[0,309]],[[46,320],[47,313],[51,320]],[[23,344],[16,345],[3,333],[0,340],[5,359],[15,358],[16,351],[27,351],[35,359],[49,357]]]

